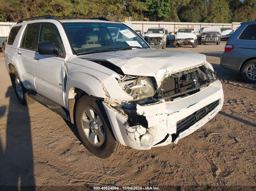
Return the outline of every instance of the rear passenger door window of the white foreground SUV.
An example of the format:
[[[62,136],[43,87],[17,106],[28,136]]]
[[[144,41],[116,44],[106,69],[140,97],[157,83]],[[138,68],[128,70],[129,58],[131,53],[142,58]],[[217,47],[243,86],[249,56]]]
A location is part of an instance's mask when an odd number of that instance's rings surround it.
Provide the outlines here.
[[[28,25],[23,35],[21,48],[35,50],[35,39],[38,24]]]

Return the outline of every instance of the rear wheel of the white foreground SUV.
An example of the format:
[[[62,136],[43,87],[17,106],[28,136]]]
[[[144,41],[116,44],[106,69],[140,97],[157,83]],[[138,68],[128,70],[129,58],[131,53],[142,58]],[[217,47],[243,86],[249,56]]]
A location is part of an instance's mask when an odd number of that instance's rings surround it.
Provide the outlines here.
[[[14,84],[14,91],[22,105],[31,105],[35,103],[35,100],[27,95],[27,89],[23,86],[22,81],[18,75],[18,72],[15,71],[13,77],[11,77],[12,84]]]

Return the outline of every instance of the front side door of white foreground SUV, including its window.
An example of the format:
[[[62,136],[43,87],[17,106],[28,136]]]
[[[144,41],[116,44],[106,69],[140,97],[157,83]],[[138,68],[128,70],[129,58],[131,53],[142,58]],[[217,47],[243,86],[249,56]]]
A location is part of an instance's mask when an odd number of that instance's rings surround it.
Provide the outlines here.
[[[38,43],[54,42],[59,52],[64,52],[60,34],[54,24],[41,23]],[[33,65],[35,70],[35,87],[39,94],[65,107],[64,93],[64,64],[65,58],[59,56],[44,56],[37,51],[34,53]]]

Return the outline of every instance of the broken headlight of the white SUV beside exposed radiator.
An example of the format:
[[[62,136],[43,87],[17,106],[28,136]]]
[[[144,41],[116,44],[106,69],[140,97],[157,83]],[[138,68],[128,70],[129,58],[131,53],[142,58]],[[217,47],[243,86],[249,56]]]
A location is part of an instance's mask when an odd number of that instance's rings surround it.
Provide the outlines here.
[[[126,92],[134,97],[134,101],[155,95],[154,87],[152,86],[150,80],[145,77],[137,78],[135,85],[131,84],[131,86],[126,86],[126,88]],[[131,90],[130,92],[129,89]]]

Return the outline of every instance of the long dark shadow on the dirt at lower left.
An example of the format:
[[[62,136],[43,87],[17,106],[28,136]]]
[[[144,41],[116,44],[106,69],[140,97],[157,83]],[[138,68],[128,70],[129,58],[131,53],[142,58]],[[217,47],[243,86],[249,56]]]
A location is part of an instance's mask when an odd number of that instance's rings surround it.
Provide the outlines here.
[[[35,190],[28,107],[18,102],[12,87],[7,90],[6,97],[10,99],[8,111],[1,107],[0,112],[1,116],[8,113],[6,146],[0,145],[0,190]]]

